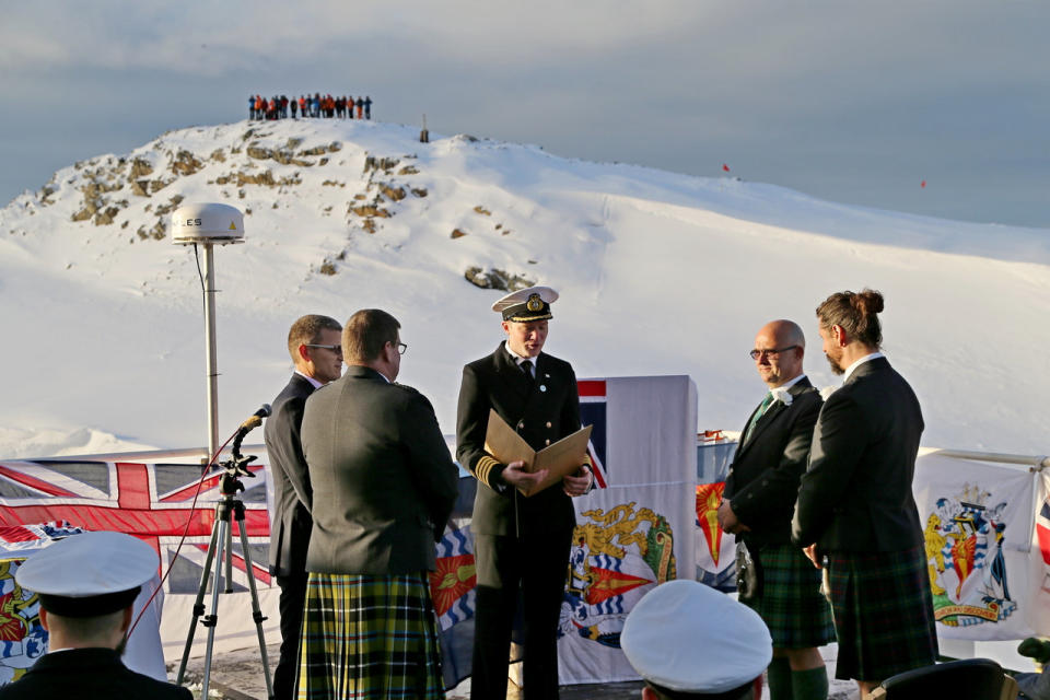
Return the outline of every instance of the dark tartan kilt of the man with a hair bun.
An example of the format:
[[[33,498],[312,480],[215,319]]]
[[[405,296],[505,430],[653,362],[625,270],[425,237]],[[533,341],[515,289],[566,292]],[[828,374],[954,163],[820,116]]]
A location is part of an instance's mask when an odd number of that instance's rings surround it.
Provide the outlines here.
[[[835,677],[878,682],[937,661],[933,597],[922,546],[828,555],[839,657]]]

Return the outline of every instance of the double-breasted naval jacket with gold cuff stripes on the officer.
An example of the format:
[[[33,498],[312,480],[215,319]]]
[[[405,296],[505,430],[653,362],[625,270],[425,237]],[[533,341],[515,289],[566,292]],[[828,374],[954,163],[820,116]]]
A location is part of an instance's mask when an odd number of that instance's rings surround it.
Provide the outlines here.
[[[485,451],[489,409],[516,428],[533,450],[580,430],[580,395],[572,365],[546,353],[529,382],[501,342],[463,368],[456,415],[456,457],[483,486],[474,500],[471,528],[480,535],[550,533],[575,526],[571,499],[555,485],[524,498],[501,477],[505,464]]]

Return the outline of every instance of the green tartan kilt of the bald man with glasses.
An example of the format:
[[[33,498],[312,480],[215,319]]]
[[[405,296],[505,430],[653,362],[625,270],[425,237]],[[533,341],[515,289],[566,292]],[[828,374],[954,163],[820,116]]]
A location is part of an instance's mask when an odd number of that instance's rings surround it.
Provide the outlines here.
[[[835,641],[831,608],[820,593],[820,571],[792,545],[758,550],[761,595],[745,602],[769,628],[777,649],[808,649]]]

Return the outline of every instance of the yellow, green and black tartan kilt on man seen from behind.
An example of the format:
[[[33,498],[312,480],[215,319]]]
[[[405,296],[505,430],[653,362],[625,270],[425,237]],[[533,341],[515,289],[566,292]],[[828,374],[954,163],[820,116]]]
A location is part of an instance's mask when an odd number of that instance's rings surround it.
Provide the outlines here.
[[[299,698],[444,698],[425,572],[311,573]]]

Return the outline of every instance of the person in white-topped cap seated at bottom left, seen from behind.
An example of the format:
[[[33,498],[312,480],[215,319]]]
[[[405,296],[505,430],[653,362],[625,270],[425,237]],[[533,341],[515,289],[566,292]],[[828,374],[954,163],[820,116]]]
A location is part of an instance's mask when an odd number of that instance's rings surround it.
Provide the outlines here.
[[[120,661],[135,599],[159,563],[142,540],[107,532],[74,535],[32,555],[14,579],[39,595],[51,651],[0,688],[0,699],[191,700],[188,688],[136,673]]]

